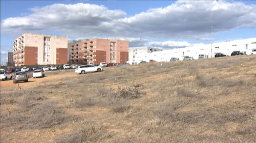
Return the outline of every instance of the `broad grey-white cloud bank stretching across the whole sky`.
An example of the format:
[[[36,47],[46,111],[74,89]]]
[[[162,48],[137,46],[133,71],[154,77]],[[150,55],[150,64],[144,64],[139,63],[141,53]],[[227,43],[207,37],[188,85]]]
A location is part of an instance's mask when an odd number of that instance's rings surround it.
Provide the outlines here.
[[[2,34],[58,31],[68,36],[195,39],[256,25],[256,5],[236,1],[176,1],[128,17],[125,11],[95,4],[53,4],[1,21]],[[13,32],[16,31],[16,32]],[[135,41],[134,41],[135,42]],[[140,42],[139,45],[142,43]]]

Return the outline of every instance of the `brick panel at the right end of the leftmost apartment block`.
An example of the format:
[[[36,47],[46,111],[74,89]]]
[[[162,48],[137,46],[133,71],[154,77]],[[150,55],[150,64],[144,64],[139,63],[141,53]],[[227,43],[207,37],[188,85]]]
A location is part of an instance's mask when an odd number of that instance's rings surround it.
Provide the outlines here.
[[[57,65],[66,64],[67,63],[67,48],[56,48],[56,59],[54,62]]]

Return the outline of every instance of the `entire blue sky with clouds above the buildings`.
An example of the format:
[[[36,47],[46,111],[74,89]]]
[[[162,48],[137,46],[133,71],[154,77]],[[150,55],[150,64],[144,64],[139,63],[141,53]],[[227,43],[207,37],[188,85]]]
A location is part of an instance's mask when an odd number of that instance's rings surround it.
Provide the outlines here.
[[[255,1],[1,1],[1,63],[24,33],[181,48],[256,37]]]

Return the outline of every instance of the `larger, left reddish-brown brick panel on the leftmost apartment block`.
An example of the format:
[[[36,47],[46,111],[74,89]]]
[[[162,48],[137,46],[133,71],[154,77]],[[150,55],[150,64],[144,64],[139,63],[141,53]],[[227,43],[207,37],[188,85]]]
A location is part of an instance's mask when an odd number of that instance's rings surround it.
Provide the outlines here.
[[[25,46],[23,54],[24,65],[36,65],[37,54],[37,47]]]

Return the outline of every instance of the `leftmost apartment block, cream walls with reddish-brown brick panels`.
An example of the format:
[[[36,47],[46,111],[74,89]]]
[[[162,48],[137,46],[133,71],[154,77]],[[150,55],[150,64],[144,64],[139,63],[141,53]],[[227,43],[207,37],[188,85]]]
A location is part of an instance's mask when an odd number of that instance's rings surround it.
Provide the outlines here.
[[[15,66],[67,63],[67,36],[25,33],[13,41],[13,62]]]

